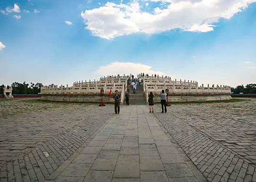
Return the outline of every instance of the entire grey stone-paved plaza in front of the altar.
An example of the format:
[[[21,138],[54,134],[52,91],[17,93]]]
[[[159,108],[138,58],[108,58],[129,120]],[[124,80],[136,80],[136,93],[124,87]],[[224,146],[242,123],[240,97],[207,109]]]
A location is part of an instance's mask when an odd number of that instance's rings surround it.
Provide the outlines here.
[[[0,106],[0,182],[256,182],[256,100]]]

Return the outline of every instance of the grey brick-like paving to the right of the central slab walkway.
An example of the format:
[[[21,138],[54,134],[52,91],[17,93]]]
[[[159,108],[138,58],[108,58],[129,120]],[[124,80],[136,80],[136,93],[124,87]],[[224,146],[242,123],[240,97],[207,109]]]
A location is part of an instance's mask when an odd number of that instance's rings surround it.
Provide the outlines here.
[[[256,182],[256,100],[182,104],[155,116],[210,182]]]

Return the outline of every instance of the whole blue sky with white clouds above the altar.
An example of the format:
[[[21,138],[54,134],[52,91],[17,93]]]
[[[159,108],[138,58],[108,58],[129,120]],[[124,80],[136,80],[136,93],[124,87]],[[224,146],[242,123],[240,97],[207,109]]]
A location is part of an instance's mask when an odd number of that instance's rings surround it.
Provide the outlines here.
[[[256,0],[0,0],[0,84],[148,73],[256,83]]]

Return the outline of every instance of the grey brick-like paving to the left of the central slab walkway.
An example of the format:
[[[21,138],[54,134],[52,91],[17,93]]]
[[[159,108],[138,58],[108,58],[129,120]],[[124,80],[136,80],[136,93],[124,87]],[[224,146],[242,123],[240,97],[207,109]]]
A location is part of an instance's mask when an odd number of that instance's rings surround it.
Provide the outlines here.
[[[0,182],[44,181],[113,116],[111,105],[35,100],[0,104]]]

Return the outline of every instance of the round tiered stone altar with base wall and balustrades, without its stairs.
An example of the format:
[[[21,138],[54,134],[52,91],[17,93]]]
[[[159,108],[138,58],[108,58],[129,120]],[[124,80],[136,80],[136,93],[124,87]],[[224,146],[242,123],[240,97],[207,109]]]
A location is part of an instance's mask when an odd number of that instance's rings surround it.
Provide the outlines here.
[[[189,80],[172,80],[170,77],[160,76],[142,76],[141,86],[147,103],[148,94],[159,94],[162,90],[168,89],[169,102],[202,102],[202,101],[220,101],[230,100],[231,87],[227,85],[198,85],[196,81]],[[123,76],[107,76],[101,77],[99,81],[76,81],[71,87],[61,85],[60,88],[41,87],[40,94],[42,100],[47,101],[73,101],[99,103],[101,102],[101,90],[104,90],[103,101],[105,103],[113,103],[113,99],[109,94],[110,91],[118,90],[121,93],[121,104],[124,102],[125,88],[127,78],[131,75]],[[154,98],[155,103],[160,103],[160,97]]]

